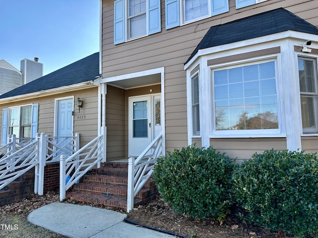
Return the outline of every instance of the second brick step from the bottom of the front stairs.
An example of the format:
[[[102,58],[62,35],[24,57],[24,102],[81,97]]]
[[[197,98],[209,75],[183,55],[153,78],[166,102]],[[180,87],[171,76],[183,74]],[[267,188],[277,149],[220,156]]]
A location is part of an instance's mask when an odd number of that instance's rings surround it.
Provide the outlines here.
[[[74,185],[74,192],[100,194],[105,196],[113,196],[127,199],[127,186],[118,186],[111,184],[93,184],[93,183],[78,183]],[[142,188],[136,195],[137,199],[146,199],[150,190]]]

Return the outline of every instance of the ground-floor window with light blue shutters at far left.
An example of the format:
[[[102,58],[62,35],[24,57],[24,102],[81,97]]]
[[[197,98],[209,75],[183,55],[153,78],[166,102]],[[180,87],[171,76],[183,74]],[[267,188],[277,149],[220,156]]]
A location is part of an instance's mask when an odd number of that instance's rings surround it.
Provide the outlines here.
[[[7,136],[17,138],[35,137],[38,129],[39,104],[22,105],[2,110],[1,145],[7,143]]]

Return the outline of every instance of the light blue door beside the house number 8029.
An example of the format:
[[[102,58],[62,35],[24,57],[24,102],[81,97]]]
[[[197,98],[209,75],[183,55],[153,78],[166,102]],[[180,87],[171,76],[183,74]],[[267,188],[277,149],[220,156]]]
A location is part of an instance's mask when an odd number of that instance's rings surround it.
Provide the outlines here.
[[[59,100],[57,102],[57,121],[56,121],[56,136],[73,136],[73,98]],[[71,139],[58,138],[59,146],[63,146]],[[60,153],[58,153],[59,155]]]

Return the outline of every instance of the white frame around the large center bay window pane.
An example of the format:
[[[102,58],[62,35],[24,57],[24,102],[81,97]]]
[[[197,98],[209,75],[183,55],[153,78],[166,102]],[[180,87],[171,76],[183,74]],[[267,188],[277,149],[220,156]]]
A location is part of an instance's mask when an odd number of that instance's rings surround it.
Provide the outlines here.
[[[234,68],[251,64],[258,64],[274,61],[275,62],[275,86],[276,86],[276,102],[277,102],[277,116],[278,116],[278,128],[277,129],[247,129],[247,130],[216,130],[216,121],[215,121],[215,103],[214,103],[214,78],[213,71]],[[211,84],[211,115],[212,115],[212,132],[210,138],[231,138],[231,137],[285,137],[286,134],[283,132],[283,118],[281,112],[281,101],[280,101],[280,88],[279,85],[282,81],[282,78],[279,76],[281,71],[279,69],[280,59],[279,55],[267,56],[262,58],[255,58],[251,60],[239,60],[236,62],[228,62],[219,65],[213,65],[209,67],[210,70],[210,84]]]

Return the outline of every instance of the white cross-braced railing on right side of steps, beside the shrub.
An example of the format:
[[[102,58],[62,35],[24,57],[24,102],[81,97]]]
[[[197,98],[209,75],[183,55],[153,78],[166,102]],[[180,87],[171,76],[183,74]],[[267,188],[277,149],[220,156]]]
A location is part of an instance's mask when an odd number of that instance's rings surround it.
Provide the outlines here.
[[[134,197],[153,174],[157,159],[162,156],[161,133],[147,146],[140,156],[128,160],[127,212],[134,208]]]

